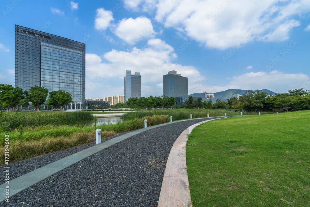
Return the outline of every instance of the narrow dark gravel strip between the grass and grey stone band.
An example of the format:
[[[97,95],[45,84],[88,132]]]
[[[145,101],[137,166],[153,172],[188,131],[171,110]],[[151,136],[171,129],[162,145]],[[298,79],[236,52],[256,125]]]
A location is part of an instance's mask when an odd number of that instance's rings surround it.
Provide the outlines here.
[[[118,133],[116,135],[114,135],[113,137],[108,137],[105,139],[102,139],[102,142],[108,141],[110,139],[113,139],[115,137],[121,136],[123,134],[126,134],[129,132],[123,132],[123,133]],[[9,166],[11,167],[10,169],[12,171],[10,171],[10,180],[17,178],[19,176],[22,176],[24,174],[27,174],[35,169],[41,168],[47,164],[50,164],[52,162],[55,162],[57,160],[60,160],[64,157],[67,157],[69,155],[72,155],[74,153],[77,153],[79,151],[85,150],[91,146],[95,146],[96,142],[91,142],[89,144],[86,145],[81,145],[81,146],[76,146],[76,147],[72,147],[70,149],[66,149],[66,150],[62,150],[62,151],[56,151],[53,153],[49,153],[46,155],[41,155],[41,156],[37,156],[37,157],[33,157],[33,158],[29,158],[27,160],[22,160],[19,162],[14,162],[11,163]],[[5,173],[4,170],[2,170],[1,172],[1,178],[5,178]],[[0,181],[0,185],[4,183],[4,179]]]

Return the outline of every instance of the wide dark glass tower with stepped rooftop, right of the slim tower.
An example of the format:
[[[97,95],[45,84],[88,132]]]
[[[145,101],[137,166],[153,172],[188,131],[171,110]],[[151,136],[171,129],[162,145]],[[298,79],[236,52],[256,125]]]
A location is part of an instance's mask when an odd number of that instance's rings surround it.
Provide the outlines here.
[[[175,70],[164,75],[164,96],[167,97],[187,97],[188,78],[177,74]]]

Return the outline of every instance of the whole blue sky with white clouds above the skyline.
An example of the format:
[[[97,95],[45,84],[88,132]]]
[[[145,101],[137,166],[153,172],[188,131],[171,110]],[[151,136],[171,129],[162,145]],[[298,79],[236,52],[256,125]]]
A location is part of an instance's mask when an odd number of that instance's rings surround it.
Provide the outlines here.
[[[163,75],[188,77],[188,93],[310,90],[308,0],[122,0],[0,3],[0,83],[14,85],[14,25],[86,43],[86,98],[124,94],[126,70],[142,96]]]

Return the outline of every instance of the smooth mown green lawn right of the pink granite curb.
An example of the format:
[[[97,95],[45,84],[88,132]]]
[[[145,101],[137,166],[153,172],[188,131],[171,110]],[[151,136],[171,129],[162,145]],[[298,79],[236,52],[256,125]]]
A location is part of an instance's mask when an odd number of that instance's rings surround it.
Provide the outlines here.
[[[310,206],[310,111],[218,119],[188,136],[193,206]]]

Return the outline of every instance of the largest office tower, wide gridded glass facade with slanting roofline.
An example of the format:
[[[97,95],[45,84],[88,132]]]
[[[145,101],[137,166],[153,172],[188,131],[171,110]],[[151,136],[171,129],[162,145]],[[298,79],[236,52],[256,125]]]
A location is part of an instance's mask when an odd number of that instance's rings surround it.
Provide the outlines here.
[[[15,25],[15,87],[64,90],[85,100],[85,44]]]

